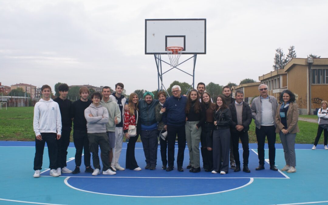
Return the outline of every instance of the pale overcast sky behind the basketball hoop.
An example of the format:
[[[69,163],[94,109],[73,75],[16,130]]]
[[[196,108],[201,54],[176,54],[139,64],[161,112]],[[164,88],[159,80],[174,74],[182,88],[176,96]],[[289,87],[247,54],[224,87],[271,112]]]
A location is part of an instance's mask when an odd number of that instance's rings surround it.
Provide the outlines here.
[[[0,0],[0,82],[52,88],[122,82],[127,93],[156,90],[145,19],[160,18],[206,18],[207,50],[197,55],[195,84],[258,81],[273,70],[279,47],[287,54],[294,45],[299,58],[328,57],[327,8],[325,0]],[[192,72],[192,62],[180,68]],[[174,80],[192,83],[176,69],[163,76],[165,87]]]

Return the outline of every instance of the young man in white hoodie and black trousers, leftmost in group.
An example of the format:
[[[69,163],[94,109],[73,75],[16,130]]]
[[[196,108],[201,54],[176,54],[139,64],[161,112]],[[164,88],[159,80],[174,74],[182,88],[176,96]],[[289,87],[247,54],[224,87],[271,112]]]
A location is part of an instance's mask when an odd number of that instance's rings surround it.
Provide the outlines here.
[[[51,88],[49,85],[41,87],[42,99],[34,106],[33,129],[35,133],[35,157],[34,157],[34,178],[40,177],[42,169],[43,151],[47,142],[50,175],[59,176],[56,172],[57,166],[57,142],[61,137],[61,115],[58,103],[51,98]]]

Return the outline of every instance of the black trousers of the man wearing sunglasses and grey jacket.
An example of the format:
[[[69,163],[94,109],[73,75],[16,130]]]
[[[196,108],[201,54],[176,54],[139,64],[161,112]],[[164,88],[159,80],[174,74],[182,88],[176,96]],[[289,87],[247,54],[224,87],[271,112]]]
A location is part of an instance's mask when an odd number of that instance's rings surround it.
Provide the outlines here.
[[[275,165],[276,158],[276,127],[272,126],[261,126],[261,129],[255,128],[256,139],[257,139],[257,153],[260,165],[264,165],[264,143],[265,136],[268,139],[269,146],[269,161],[270,165]]]

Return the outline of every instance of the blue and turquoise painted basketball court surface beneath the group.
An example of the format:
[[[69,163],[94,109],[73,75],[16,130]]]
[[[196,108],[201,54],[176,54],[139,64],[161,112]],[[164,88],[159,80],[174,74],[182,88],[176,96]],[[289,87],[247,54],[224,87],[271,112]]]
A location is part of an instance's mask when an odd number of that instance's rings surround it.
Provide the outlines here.
[[[257,144],[250,144],[248,167],[251,173],[232,169],[228,174],[189,173],[186,147],[184,172],[162,170],[158,147],[156,170],[145,170],[142,144],[136,143],[135,155],[141,171],[117,171],[116,175],[92,176],[84,173],[49,175],[48,150],[45,148],[40,178],[33,178],[35,142],[0,141],[0,204],[328,204],[328,151],[323,145],[296,146],[297,172],[255,171]],[[177,145],[176,145],[177,146]],[[242,161],[242,149],[239,144]],[[276,144],[276,166],[285,165],[281,144]],[[99,150],[100,152],[100,150]],[[126,144],[120,157],[125,167]],[[177,147],[175,149],[175,159]],[[75,148],[70,144],[67,167],[75,168]],[[266,145],[265,157],[268,157]],[[201,160],[202,165],[202,160]],[[93,167],[93,166],[92,166]]]

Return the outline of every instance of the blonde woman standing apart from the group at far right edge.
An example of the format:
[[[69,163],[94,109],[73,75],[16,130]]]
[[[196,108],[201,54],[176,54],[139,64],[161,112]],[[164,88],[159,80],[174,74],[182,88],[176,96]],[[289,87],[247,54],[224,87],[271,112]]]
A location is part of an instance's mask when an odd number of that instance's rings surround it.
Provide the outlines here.
[[[323,144],[324,144],[324,149],[328,150],[327,147],[327,141],[328,141],[328,109],[327,109],[328,103],[327,101],[323,100],[321,101],[321,108],[318,110],[318,132],[317,132],[317,137],[314,141],[314,145],[312,147],[312,150],[317,149],[317,145],[320,139],[320,136],[323,131]]]

